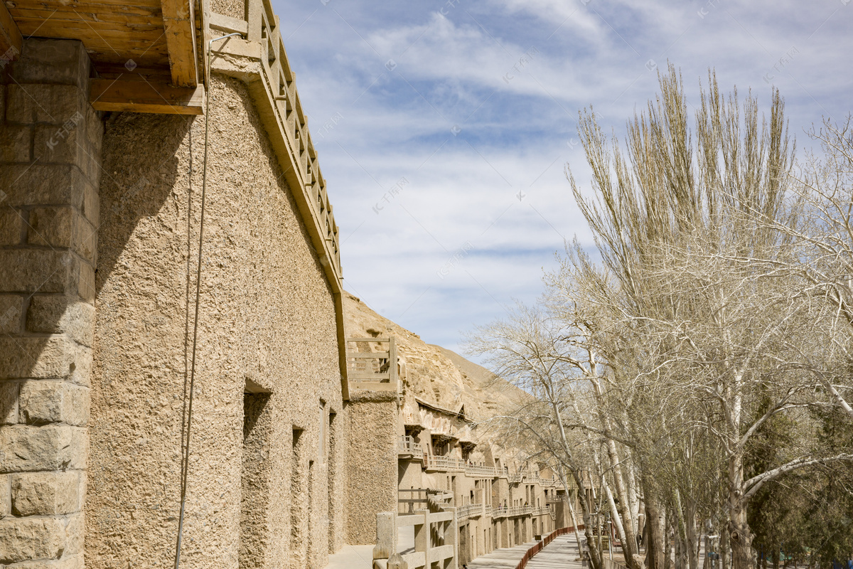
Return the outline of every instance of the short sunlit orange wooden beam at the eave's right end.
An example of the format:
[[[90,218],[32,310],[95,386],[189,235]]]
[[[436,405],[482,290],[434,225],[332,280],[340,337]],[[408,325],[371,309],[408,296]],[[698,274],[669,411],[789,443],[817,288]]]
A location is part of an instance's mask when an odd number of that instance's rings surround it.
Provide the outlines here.
[[[194,0],[161,0],[165,44],[169,49],[171,82],[176,87],[199,84],[198,55],[195,49]]]

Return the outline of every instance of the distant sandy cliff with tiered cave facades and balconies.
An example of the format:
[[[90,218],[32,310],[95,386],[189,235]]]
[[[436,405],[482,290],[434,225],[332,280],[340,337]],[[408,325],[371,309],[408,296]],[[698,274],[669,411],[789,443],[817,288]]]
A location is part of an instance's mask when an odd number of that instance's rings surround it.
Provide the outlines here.
[[[427,345],[350,294],[344,305],[351,364],[360,357],[379,371],[391,369],[386,354],[397,361],[397,381],[388,374],[395,397],[386,403],[386,415],[397,411],[397,516],[415,514],[428,502],[453,509],[459,566],[572,525],[566,500],[573,500],[573,486],[566,495],[554,472],[529,459],[531,450],[498,444],[487,421],[523,404],[525,392],[452,351]],[[359,385],[360,371],[351,368],[351,386]],[[382,511],[377,505],[371,514]],[[411,539],[401,534],[398,541],[399,552],[411,553]]]

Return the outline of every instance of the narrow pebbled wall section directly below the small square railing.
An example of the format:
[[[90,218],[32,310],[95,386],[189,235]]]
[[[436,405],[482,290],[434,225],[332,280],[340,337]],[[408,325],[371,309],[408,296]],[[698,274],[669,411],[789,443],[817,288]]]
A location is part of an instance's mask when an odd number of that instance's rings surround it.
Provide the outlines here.
[[[397,393],[351,392],[346,542],[376,543],[376,514],[397,511]]]

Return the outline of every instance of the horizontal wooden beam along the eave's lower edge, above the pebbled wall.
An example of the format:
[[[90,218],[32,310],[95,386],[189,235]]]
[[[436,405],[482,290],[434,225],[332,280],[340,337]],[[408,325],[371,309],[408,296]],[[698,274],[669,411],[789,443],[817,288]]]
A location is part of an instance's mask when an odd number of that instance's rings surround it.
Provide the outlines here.
[[[92,79],[89,102],[96,111],[202,114],[205,89],[173,87],[138,79]]]

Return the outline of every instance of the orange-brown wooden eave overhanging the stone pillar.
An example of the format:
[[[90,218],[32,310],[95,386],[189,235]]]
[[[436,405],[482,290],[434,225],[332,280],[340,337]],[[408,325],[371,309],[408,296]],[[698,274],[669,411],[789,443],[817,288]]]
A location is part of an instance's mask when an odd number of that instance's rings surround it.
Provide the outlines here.
[[[0,3],[0,57],[14,61],[22,38],[76,39],[92,61],[90,99],[96,110],[200,114],[204,61],[198,4],[9,0]]]

